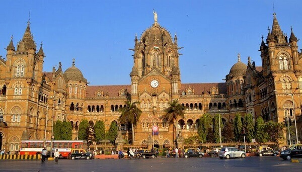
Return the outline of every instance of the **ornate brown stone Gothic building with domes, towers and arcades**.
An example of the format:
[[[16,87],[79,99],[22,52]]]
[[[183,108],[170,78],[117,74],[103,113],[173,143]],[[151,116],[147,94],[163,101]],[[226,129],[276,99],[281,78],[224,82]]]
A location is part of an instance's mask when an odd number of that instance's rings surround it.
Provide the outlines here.
[[[84,118],[102,120],[108,129],[118,122],[127,99],[139,101],[142,111],[134,140],[131,125],[121,124],[123,137],[136,145],[147,144],[154,125],[159,127],[156,146],[174,144],[173,126],[161,119],[173,99],[185,107],[185,118],[177,120],[184,138],[197,133],[203,114],[219,113],[228,122],[237,113],[251,113],[276,122],[296,116],[301,140],[302,53],[297,41],[292,29],[289,39],[283,34],[274,14],[272,29],[261,41],[262,66],[250,58],[244,64],[238,54],[225,82],[182,83],[177,35],[173,38],[155,15],[153,25],[139,39],[135,36],[131,85],[91,86],[74,59],[64,72],[61,63],[43,72],[43,48],[37,49],[28,23],[17,49],[12,38],[6,59],[0,59],[0,149],[17,151],[22,139],[50,139],[56,120],[70,121],[74,139]],[[296,142],[295,135],[291,141]]]

